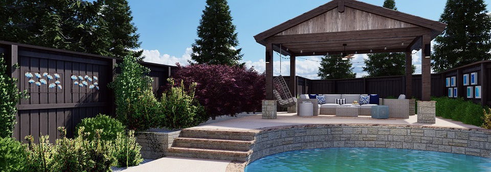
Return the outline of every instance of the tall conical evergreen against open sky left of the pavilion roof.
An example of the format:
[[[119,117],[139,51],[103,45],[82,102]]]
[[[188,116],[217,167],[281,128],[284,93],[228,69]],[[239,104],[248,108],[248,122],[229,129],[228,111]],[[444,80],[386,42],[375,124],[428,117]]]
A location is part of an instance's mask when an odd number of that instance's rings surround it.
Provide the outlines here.
[[[198,64],[244,65],[238,62],[243,54],[240,54],[242,49],[235,49],[239,41],[227,0],[207,0],[206,4],[191,58]]]

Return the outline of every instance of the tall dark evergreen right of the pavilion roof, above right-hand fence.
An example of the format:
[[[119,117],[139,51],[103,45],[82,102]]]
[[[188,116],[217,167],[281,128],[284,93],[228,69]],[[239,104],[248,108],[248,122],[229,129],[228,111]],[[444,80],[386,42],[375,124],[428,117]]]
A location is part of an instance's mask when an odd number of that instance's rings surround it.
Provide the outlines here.
[[[448,0],[436,37],[432,67],[436,72],[491,59],[491,16],[483,0]]]

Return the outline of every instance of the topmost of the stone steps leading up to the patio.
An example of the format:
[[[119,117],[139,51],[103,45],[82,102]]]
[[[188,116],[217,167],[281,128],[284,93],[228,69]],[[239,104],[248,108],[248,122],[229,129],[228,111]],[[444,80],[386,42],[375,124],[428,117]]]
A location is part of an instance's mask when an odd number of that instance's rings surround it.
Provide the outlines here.
[[[180,137],[252,141],[255,140],[254,136],[256,133],[256,131],[224,131],[187,128],[181,131]]]

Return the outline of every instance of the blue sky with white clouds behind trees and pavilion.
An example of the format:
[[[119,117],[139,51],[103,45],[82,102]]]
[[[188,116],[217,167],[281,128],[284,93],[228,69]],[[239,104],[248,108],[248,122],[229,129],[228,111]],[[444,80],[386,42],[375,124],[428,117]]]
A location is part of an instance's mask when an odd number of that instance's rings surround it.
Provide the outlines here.
[[[186,65],[191,60],[191,45],[196,36],[196,27],[205,8],[205,0],[128,0],[133,15],[133,23],[138,28],[144,50],[145,61],[175,65]],[[384,0],[359,0],[382,6]],[[271,29],[288,19],[328,3],[329,0],[229,0],[233,23],[238,33],[239,46],[244,54],[242,61],[248,67],[263,72],[264,46],[258,44],[254,35]],[[396,0],[398,11],[438,20],[445,7],[445,0]],[[491,0],[485,0],[486,4]],[[488,7],[489,10],[489,7]],[[413,55],[416,74],[421,73],[421,54]],[[321,56],[309,56],[308,59],[320,60]],[[362,71],[365,54],[355,55],[352,59],[357,77],[368,75]],[[280,74],[280,58],[274,56],[274,75]],[[298,76],[319,79],[317,72],[320,64],[316,61],[298,59]],[[289,75],[289,62],[281,62],[281,74]]]

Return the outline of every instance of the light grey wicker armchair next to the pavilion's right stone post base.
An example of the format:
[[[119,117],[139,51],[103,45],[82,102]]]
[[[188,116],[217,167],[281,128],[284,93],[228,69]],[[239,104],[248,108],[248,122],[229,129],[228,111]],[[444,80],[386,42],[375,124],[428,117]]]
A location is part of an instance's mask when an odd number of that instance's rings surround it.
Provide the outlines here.
[[[414,99],[384,99],[384,105],[389,106],[390,118],[408,119],[414,115]]]

